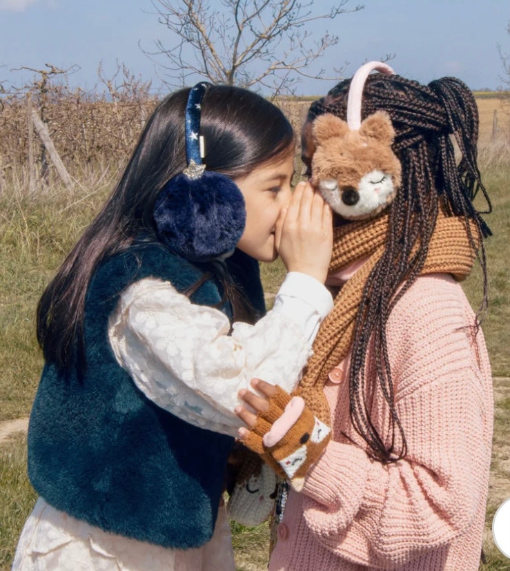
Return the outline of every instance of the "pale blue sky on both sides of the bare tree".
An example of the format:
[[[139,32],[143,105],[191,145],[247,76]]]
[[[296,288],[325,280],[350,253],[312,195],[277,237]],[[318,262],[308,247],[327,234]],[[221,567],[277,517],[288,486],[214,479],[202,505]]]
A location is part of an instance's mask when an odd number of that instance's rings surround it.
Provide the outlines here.
[[[210,4],[220,6],[220,1]],[[344,75],[350,77],[366,59],[391,53],[391,66],[405,77],[428,82],[455,75],[472,89],[496,89],[503,72],[498,43],[510,54],[509,21],[508,0],[366,0],[364,10],[317,28],[340,36],[320,65],[348,61]],[[90,90],[97,84],[99,63],[108,75],[119,60],[166,91],[158,77],[163,71],[139,48],[141,43],[152,50],[155,39],[172,43],[150,0],[0,0],[0,81],[23,85],[34,74],[11,71],[21,66],[77,64],[70,83]],[[297,93],[321,95],[333,84],[304,81]]]

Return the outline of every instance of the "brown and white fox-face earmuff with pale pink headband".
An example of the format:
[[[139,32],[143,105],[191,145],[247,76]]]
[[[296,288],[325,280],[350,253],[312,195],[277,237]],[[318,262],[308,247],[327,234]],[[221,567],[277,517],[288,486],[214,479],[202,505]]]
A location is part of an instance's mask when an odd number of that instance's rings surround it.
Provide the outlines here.
[[[395,130],[384,111],[361,120],[362,92],[372,70],[393,75],[380,61],[357,70],[347,99],[347,121],[331,113],[312,126],[315,153],[311,182],[331,208],[347,220],[374,217],[391,204],[401,181],[401,165],[391,149]]]

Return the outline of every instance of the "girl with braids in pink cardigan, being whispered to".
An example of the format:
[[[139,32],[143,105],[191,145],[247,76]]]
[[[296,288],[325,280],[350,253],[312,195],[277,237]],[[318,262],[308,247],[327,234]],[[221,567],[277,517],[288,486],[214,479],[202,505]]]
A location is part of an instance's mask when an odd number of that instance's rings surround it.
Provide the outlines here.
[[[368,75],[373,68],[382,73]],[[242,397],[257,415],[237,409],[251,428],[239,429],[242,441],[290,478],[269,569],[478,570],[493,429],[479,319],[490,231],[473,206],[479,191],[491,210],[476,162],[478,112],[458,79],[424,86],[378,62],[364,73],[363,122],[349,122],[355,76],[311,105],[302,158],[333,209],[346,200],[348,212],[362,202],[362,189],[325,179],[324,169],[340,169],[354,137],[362,143],[352,160],[362,162],[375,136],[369,122],[378,117],[390,124],[400,163],[393,191],[368,214],[335,215],[327,282],[337,290],[335,307],[290,403],[284,391],[255,380],[258,394]],[[337,127],[342,136],[332,134]],[[381,170],[369,182],[391,178]],[[484,275],[477,314],[459,283],[475,260]],[[310,412],[331,434],[308,454]]]

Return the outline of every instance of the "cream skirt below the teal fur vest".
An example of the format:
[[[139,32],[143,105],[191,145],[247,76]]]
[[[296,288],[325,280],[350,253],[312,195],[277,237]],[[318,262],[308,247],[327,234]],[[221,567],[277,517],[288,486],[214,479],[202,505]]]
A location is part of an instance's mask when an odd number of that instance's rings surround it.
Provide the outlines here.
[[[177,550],[104,532],[39,498],[21,532],[12,570],[235,571],[235,562],[223,504],[212,539],[200,548]]]

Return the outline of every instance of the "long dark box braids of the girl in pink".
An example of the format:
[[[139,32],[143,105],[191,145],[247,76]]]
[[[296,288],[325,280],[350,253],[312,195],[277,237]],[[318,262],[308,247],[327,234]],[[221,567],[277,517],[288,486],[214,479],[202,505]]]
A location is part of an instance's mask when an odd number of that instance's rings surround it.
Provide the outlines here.
[[[342,81],[326,97],[315,101],[307,122],[324,113],[346,119],[349,84],[350,80]],[[391,462],[406,455],[406,438],[395,409],[386,322],[395,304],[420,274],[438,211],[443,209],[446,215],[464,218],[469,243],[482,267],[484,285],[475,326],[478,327],[478,317],[487,309],[487,267],[482,239],[491,235],[480,214],[491,212],[491,202],[477,166],[478,108],[462,81],[443,77],[424,86],[398,75],[371,75],[364,85],[362,118],[377,110],[389,114],[395,129],[393,151],[402,164],[402,186],[389,209],[384,253],[364,285],[353,333],[349,387],[355,429],[369,445],[374,458]],[[451,135],[462,157],[458,164]],[[477,211],[473,206],[478,191],[482,191],[487,202],[486,211]],[[371,422],[363,386],[367,349],[372,342],[376,377],[369,390],[375,390],[378,383],[389,404],[389,445],[385,445]]]

